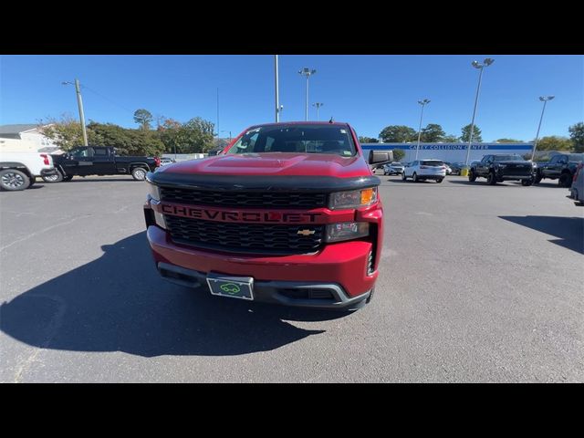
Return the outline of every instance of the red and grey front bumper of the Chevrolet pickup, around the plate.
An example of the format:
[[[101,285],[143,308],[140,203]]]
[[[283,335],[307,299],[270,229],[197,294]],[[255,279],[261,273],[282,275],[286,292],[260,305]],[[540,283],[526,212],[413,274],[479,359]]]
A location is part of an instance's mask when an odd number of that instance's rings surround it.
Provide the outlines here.
[[[309,255],[236,255],[172,242],[156,225],[148,241],[162,277],[208,290],[206,276],[252,276],[254,299],[290,306],[353,309],[365,304],[378,272],[368,275],[373,245],[348,241],[325,245]]]

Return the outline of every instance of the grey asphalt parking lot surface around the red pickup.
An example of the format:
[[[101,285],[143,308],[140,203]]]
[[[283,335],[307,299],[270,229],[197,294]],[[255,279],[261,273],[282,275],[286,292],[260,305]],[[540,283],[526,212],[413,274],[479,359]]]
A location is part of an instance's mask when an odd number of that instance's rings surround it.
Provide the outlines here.
[[[567,189],[378,176],[381,275],[349,315],[162,281],[131,178],[0,193],[0,381],[584,381]]]

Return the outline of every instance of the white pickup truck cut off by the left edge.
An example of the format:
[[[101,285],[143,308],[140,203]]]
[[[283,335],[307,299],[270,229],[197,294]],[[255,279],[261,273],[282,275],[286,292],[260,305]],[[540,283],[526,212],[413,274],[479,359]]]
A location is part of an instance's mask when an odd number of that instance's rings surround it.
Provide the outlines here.
[[[55,174],[53,158],[47,153],[0,151],[0,189],[25,190],[37,176]]]

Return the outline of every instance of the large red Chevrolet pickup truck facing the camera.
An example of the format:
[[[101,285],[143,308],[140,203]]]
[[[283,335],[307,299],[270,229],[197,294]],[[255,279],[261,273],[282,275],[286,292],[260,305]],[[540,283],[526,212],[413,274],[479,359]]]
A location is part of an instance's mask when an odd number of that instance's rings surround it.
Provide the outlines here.
[[[371,152],[369,164],[391,155]],[[383,238],[381,182],[369,164],[347,123],[287,122],[149,172],[144,215],[160,274],[217,296],[364,306]]]

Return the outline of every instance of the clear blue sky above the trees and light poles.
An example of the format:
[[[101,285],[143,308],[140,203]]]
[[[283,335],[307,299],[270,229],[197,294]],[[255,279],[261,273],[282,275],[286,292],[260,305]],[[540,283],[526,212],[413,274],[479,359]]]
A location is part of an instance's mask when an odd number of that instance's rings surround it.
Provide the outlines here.
[[[431,99],[423,125],[439,123],[460,135],[470,123],[478,70],[474,59],[494,57],[485,68],[476,124],[484,141],[532,140],[548,102],[540,136],[568,135],[584,119],[584,57],[432,55],[338,56],[280,55],[282,120],[304,120],[305,79],[297,71],[316,68],[310,78],[310,103],[323,102],[320,119],[349,121],[359,135],[377,137],[387,125],[417,130],[418,99]],[[78,115],[72,86],[79,78],[87,120],[133,127],[133,111],[186,121],[216,122],[232,134],[274,121],[274,60],[271,55],[238,56],[2,56],[0,124],[36,122],[62,113]],[[310,106],[310,120],[316,110]],[[228,136],[223,132],[222,136]]]

